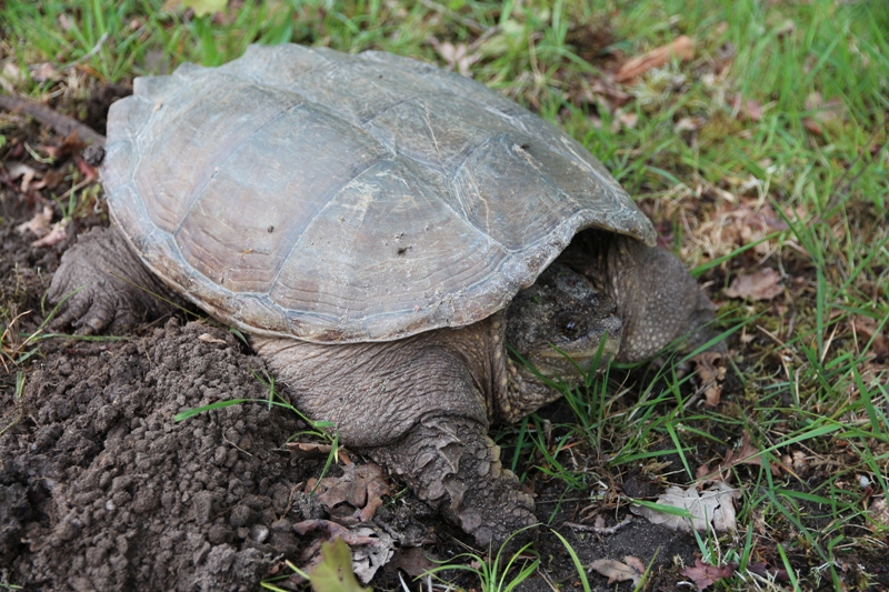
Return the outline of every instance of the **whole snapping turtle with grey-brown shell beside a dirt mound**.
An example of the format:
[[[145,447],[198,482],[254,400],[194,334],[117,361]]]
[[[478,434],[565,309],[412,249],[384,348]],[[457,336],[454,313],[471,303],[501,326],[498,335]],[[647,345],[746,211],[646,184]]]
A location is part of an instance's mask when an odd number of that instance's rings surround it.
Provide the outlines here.
[[[83,288],[58,323],[118,331],[162,311],[150,292],[187,298],[482,544],[533,522],[490,422],[557,398],[541,375],[713,318],[581,144],[389,53],[253,46],[139,78],[100,172],[114,227],[62,258],[50,298]]]

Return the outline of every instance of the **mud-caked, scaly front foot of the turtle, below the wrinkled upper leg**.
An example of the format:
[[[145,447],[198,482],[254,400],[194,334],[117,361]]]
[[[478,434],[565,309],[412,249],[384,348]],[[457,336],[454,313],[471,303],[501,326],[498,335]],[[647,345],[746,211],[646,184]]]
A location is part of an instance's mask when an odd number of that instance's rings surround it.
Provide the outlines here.
[[[479,546],[499,545],[537,522],[533,500],[500,464],[499,446],[478,422],[453,417],[424,419],[396,444],[366,452],[472,534]]]

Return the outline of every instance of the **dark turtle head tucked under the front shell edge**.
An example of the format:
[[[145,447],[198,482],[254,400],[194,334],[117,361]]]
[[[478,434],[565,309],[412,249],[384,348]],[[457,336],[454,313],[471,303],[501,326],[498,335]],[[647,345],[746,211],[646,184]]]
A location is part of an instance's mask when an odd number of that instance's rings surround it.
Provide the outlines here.
[[[615,301],[561,263],[543,270],[507,311],[507,343],[547,378],[580,378],[597,355],[607,364],[620,348],[621,331]]]

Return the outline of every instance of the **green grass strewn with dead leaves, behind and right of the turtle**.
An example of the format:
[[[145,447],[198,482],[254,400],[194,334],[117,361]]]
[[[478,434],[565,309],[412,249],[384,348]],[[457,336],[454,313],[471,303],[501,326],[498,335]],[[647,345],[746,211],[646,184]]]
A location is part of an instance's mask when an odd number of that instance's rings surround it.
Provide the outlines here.
[[[8,3],[0,48],[19,73],[8,67],[4,86],[77,109],[92,84],[223,63],[251,42],[439,64],[432,38],[465,44],[475,79],[606,163],[738,328],[718,407],[701,405],[675,364],[616,369],[566,389],[571,422],[532,415],[502,429],[505,459],[562,482],[558,508],[592,490],[626,505],[626,475],[688,483],[747,433],[762,460],[731,468],[739,532],[701,542],[711,561],[740,563],[718,585],[746,590],[761,578],[748,565],[762,561],[799,589],[869,585],[855,565],[889,553],[889,526],[868,512],[889,493],[889,4],[244,1],[214,18],[161,4]],[[696,40],[692,60],[620,93],[596,87],[621,56],[679,34]],[[38,76],[43,62],[54,76]],[[778,298],[721,295],[766,267],[781,275]]]

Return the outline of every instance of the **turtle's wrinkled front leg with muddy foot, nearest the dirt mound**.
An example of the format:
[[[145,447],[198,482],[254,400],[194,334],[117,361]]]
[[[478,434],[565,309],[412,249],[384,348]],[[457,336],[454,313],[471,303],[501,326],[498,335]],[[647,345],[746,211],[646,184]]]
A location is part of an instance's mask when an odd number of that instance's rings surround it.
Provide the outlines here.
[[[533,524],[533,501],[488,438],[485,380],[447,347],[451,330],[384,343],[251,338],[313,420],[401,478],[479,545]],[[465,331],[472,331],[472,328]]]

